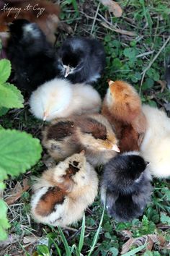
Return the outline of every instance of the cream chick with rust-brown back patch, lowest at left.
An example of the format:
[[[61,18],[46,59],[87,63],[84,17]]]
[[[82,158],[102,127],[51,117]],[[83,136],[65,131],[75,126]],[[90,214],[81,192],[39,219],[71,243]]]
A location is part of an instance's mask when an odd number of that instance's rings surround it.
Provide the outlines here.
[[[32,216],[53,226],[67,226],[82,218],[97,196],[98,179],[84,151],[48,169],[33,187]]]

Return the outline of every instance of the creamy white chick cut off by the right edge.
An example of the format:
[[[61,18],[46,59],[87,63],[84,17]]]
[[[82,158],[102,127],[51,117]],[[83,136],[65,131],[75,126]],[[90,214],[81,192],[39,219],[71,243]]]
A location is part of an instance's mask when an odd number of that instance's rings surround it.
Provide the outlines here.
[[[148,127],[140,146],[146,161],[150,162],[151,174],[158,178],[170,176],[170,119],[164,111],[144,105]]]

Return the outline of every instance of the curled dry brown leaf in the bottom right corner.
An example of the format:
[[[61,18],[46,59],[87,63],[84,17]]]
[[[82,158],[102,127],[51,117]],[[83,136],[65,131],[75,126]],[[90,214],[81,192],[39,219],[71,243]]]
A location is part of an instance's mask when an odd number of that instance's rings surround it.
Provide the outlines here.
[[[158,236],[156,234],[149,234],[148,236],[140,236],[138,238],[130,238],[125,244],[122,245],[121,255],[125,254],[130,250],[130,247],[137,245],[138,247],[143,244],[147,244],[146,249],[151,250],[153,244],[159,244],[164,247],[166,244],[166,239],[163,236]]]

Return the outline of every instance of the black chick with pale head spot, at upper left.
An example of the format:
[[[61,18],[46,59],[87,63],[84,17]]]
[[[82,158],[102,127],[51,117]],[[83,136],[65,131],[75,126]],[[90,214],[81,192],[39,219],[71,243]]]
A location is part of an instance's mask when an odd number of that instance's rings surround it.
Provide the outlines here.
[[[15,71],[17,87],[31,92],[52,80],[57,74],[57,57],[37,24],[14,20],[9,33],[6,52]]]

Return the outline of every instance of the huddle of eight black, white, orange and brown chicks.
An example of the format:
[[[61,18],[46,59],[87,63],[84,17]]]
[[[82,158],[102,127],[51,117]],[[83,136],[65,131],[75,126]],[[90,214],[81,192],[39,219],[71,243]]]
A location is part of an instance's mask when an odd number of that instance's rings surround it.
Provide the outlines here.
[[[151,175],[170,175],[166,114],[142,106],[135,88],[119,80],[108,80],[102,102],[92,85],[106,60],[95,39],[68,38],[55,51],[42,28],[19,19],[9,25],[6,54],[16,85],[30,92],[30,111],[50,121],[42,145],[57,162],[36,180],[32,216],[53,226],[78,221],[97,196],[100,165],[101,200],[109,216],[141,216],[151,200]]]

